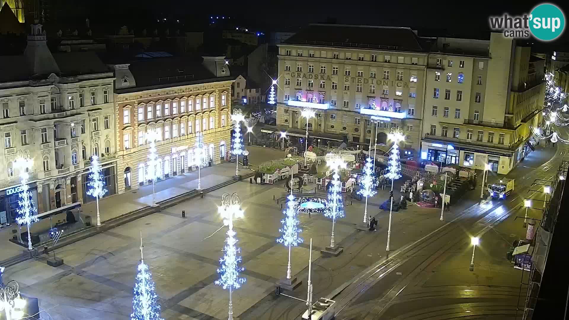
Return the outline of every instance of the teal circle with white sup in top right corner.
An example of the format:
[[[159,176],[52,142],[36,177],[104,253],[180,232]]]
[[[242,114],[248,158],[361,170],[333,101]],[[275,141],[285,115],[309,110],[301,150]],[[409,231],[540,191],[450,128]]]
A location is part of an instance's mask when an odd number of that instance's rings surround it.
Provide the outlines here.
[[[563,33],[565,28],[565,15],[556,5],[542,3],[531,10],[530,31],[535,38],[542,41],[551,41]]]

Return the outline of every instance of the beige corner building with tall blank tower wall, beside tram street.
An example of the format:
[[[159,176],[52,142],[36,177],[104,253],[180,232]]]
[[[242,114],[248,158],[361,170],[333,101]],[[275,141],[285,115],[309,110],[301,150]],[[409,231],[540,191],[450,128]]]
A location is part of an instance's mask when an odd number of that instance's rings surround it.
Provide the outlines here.
[[[501,33],[438,38],[427,63],[421,158],[506,174],[533,149],[545,60]]]

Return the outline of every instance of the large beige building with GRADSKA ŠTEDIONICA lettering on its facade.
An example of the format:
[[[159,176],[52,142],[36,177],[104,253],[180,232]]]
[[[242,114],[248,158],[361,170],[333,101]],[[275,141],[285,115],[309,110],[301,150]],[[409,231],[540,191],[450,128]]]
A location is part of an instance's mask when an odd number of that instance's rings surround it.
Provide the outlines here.
[[[278,44],[277,125],[310,137],[335,134],[367,146],[403,129],[402,157],[416,157],[428,42],[410,28],[311,24]],[[379,123],[372,122],[372,116]],[[377,127],[377,130],[376,130]]]

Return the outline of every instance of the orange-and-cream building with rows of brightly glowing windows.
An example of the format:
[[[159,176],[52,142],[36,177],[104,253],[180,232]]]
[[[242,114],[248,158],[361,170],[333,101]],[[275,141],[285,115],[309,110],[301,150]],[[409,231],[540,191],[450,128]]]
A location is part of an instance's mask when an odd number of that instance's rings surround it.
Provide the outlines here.
[[[158,180],[197,170],[196,133],[203,133],[212,165],[229,160],[231,85],[223,56],[153,56],[113,64],[119,193],[151,183],[147,177],[150,130],[158,130]]]

